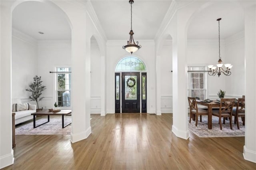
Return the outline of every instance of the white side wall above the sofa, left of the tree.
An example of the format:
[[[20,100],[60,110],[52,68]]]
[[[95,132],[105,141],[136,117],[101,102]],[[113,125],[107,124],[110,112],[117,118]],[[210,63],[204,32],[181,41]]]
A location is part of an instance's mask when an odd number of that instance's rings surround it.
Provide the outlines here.
[[[37,75],[37,41],[12,30],[12,98],[29,101],[26,91]],[[34,102],[30,102],[34,103]]]

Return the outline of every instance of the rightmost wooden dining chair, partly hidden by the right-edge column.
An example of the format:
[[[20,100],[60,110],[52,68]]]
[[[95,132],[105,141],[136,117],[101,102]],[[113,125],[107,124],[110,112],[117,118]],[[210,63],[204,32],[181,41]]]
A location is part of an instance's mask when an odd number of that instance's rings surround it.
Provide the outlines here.
[[[245,125],[245,98],[238,98],[237,105],[233,108],[232,115],[235,117],[234,123],[236,123],[238,129],[240,129],[238,117],[241,117],[243,125]]]

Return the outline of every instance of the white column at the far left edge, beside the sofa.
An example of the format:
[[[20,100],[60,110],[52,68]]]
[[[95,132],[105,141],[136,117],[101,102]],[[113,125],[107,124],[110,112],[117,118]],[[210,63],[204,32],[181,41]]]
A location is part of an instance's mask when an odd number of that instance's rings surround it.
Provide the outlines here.
[[[0,1],[0,169],[13,164],[12,150],[12,2]]]

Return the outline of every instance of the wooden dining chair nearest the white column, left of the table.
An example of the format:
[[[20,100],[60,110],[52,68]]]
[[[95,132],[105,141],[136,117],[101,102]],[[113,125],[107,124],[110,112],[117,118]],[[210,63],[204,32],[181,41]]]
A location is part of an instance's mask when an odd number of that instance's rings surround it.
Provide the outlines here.
[[[191,118],[194,115],[196,117],[196,126],[198,122],[198,116],[200,115],[200,122],[202,122],[202,115],[208,115],[208,111],[203,109],[198,109],[196,103],[196,97],[188,97],[189,110],[190,110],[190,119],[189,123],[191,123]]]

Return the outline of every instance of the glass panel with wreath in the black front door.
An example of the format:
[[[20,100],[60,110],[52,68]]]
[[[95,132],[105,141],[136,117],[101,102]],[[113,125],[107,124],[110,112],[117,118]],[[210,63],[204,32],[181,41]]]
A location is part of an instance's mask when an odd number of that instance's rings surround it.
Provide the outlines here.
[[[137,100],[137,76],[126,75],[125,80],[125,100]]]

